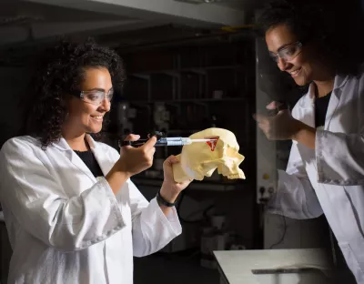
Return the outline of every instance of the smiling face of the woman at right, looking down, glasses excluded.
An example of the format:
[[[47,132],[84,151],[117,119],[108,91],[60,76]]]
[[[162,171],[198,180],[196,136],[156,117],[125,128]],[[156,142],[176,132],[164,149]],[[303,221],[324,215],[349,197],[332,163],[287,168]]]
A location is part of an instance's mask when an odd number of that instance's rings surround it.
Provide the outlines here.
[[[289,48],[300,39],[294,35],[288,25],[277,25],[268,29],[266,33],[266,42],[268,50],[272,54],[286,49],[288,54]],[[322,56],[319,56],[313,44],[304,44],[300,52],[293,59],[285,61],[278,58],[278,68],[281,71],[288,72],[295,80],[298,86],[305,86],[313,80],[318,80],[320,73],[325,70],[322,62]]]

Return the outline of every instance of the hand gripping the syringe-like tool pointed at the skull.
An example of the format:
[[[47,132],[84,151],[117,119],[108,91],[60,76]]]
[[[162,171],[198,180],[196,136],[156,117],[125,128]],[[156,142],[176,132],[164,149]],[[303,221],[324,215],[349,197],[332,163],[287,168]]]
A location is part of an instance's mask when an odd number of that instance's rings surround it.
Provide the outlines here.
[[[136,141],[140,136],[129,134],[126,141]],[[130,177],[134,176],[153,165],[153,157],[156,152],[154,147],[157,137],[151,137],[141,147],[124,146],[120,148],[120,158],[116,162],[120,171],[126,172]]]

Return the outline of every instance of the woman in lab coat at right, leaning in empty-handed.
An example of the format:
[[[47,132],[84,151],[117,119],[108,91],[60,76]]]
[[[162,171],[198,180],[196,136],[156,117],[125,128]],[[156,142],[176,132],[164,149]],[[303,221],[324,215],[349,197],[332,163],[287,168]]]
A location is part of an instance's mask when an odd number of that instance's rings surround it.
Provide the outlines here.
[[[325,214],[349,269],[364,284],[362,35],[357,32],[355,43],[344,34],[330,37],[324,27],[328,9],[300,3],[270,5],[260,18],[268,52],[278,68],[288,72],[298,86],[309,86],[291,112],[256,115],[268,139],[293,141],[288,167],[278,170],[277,193],[268,209],[289,218]],[[345,17],[337,17],[337,22],[344,25]],[[336,28],[332,21],[329,28]],[[329,46],[330,40],[337,46]],[[353,44],[352,48],[340,49],[342,40]],[[267,107],[278,108],[278,103]]]

